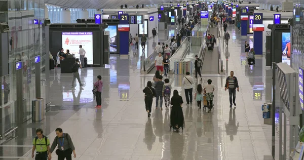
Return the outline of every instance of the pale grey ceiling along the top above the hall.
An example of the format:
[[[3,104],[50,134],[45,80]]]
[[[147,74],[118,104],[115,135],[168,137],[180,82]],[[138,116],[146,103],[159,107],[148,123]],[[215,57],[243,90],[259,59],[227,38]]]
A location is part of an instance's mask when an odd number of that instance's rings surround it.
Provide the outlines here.
[[[244,0],[243,0],[244,1]],[[272,4],[281,5],[285,0],[255,0],[252,3],[259,4]],[[166,0],[45,0],[45,3],[50,5],[56,5],[66,8],[87,8],[87,9],[109,9],[109,8],[119,8],[121,5],[127,4],[128,6],[141,6],[168,3],[170,1]],[[247,2],[247,0],[245,0]]]

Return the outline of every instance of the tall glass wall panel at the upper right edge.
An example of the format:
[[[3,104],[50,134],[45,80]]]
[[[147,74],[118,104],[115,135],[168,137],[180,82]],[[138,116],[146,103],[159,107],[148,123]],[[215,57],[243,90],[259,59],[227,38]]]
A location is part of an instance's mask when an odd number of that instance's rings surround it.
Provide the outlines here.
[[[292,27],[292,68],[296,71],[304,66],[304,0],[294,0]]]

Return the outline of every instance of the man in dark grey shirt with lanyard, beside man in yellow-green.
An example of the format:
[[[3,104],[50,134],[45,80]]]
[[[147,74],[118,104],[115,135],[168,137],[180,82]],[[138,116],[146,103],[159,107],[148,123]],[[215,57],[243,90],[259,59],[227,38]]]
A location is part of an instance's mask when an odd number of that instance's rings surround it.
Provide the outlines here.
[[[58,160],[71,160],[72,153],[74,158],[76,157],[75,147],[69,134],[63,133],[61,128],[55,130],[56,137],[50,148],[50,152],[53,153],[54,149],[57,147],[56,154],[58,155]],[[51,156],[49,157],[51,159]]]

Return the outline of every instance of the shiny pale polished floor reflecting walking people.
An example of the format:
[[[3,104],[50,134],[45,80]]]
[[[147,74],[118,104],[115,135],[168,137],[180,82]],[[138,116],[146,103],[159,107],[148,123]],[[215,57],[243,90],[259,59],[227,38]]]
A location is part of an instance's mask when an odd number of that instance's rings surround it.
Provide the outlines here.
[[[253,46],[252,37],[242,38],[233,26],[228,30],[232,38],[229,46],[221,50],[229,55],[227,68],[235,71],[240,85],[237,106],[232,109],[229,94],[223,90],[225,76],[205,74],[203,81],[195,85],[212,79],[214,111],[198,111],[196,102],[183,104],[185,129],[170,132],[170,111],[155,109],[154,101],[151,117],[145,112],[142,89],[153,74],[140,74],[142,53],[129,58],[111,55],[105,67],[81,69],[82,88],[77,83],[71,89],[72,75],[60,73],[59,68],[52,70],[51,111],[46,113],[45,121],[24,124],[17,138],[0,145],[0,159],[32,159],[35,129],[44,129],[53,141],[57,127],[72,137],[77,153],[73,159],[268,159],[271,126],[263,125],[261,104],[271,98],[266,94],[271,90],[267,83],[271,75],[265,71],[263,57],[256,58],[256,67],[246,64],[242,51],[245,41]],[[103,81],[101,109],[94,108],[92,95],[97,75]],[[172,88],[185,101],[182,78],[169,75]],[[57,159],[55,153],[52,156]]]

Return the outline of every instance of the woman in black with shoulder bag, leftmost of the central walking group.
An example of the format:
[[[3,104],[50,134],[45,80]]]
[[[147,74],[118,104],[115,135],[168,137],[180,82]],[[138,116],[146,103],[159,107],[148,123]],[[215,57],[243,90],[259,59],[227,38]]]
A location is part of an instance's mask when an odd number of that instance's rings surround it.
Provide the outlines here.
[[[144,93],[144,103],[145,103],[145,108],[148,113],[148,117],[151,116],[151,110],[152,110],[152,103],[153,103],[153,98],[156,97],[156,93],[154,88],[152,87],[151,81],[147,82],[147,87],[145,87],[142,92]]]

